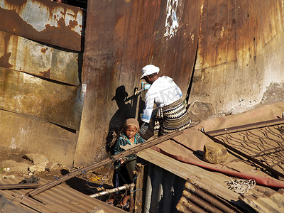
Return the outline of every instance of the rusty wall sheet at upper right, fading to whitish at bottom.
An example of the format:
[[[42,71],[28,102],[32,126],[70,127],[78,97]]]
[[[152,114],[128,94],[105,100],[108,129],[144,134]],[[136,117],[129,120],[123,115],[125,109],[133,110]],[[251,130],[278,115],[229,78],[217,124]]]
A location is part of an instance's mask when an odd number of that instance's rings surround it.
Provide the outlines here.
[[[238,113],[260,103],[272,82],[284,82],[283,2],[202,1],[190,102]]]

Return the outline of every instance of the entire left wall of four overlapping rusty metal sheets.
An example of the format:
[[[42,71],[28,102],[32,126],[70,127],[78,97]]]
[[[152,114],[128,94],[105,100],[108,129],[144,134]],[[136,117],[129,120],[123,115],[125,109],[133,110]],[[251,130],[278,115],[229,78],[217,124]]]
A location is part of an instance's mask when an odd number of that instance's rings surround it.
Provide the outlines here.
[[[84,11],[44,0],[0,0],[0,143],[71,166],[85,85]]]

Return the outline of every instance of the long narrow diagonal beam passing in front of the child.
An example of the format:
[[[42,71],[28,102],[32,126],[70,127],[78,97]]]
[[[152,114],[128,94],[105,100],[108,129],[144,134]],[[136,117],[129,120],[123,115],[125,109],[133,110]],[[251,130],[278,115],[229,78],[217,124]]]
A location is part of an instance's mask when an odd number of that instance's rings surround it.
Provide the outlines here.
[[[45,185],[42,185],[38,188],[36,188],[35,190],[31,190],[31,192],[26,193],[26,195],[28,196],[35,196],[38,195],[40,192],[43,192],[45,190],[50,189],[51,187],[55,187],[55,185],[59,185],[62,182],[65,182],[66,180],[70,180],[71,178],[74,178],[78,175],[81,175],[82,173],[87,173],[90,170],[94,170],[95,168],[99,168],[103,165],[106,165],[108,163],[113,163],[116,160],[119,160],[119,158],[125,158],[127,155],[131,155],[131,154],[136,154],[139,151],[143,151],[146,148],[150,148],[151,146],[155,146],[158,143],[161,143],[163,141],[167,141],[170,138],[173,138],[175,136],[178,136],[182,134],[182,131],[174,131],[173,133],[168,133],[164,136],[160,136],[159,138],[155,138],[151,141],[146,141],[145,143],[140,143],[136,146],[134,146],[133,148],[130,148],[127,151],[122,151],[121,153],[118,153],[116,155],[112,155],[109,158],[105,158],[104,160],[101,160],[98,163],[94,163],[93,165],[89,165],[85,168],[82,168],[80,170],[76,170],[72,173],[68,173],[66,175],[63,175],[62,177],[58,178],[57,180],[53,180],[52,182],[48,182]]]

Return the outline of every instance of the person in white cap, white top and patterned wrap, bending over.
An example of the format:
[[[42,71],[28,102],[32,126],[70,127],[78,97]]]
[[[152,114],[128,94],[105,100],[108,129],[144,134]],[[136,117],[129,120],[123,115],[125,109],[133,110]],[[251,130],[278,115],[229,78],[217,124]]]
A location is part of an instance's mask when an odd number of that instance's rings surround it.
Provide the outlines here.
[[[168,76],[158,77],[159,67],[146,65],[142,68],[141,79],[151,84],[145,96],[145,108],[141,121],[149,123],[153,115],[154,104],[158,107],[155,130],[160,128],[159,135],[182,130],[190,126],[190,117],[182,104],[180,87]],[[160,125],[157,125],[160,124]]]

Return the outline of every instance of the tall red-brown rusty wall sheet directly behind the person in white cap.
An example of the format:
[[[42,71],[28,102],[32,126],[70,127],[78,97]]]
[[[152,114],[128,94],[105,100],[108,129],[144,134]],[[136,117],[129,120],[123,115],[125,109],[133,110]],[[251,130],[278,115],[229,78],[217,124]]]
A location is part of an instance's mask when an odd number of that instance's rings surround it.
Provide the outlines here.
[[[124,102],[153,63],[186,94],[195,62],[201,1],[88,1],[82,82],[87,84],[75,164],[104,158],[109,132],[129,114]]]

